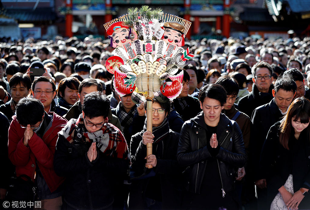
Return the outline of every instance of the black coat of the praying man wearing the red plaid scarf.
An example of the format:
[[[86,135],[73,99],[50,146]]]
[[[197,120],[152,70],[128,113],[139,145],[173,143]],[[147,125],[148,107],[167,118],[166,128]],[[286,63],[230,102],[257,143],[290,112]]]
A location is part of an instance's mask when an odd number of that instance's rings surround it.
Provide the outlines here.
[[[129,161],[110,158],[97,148],[97,158],[87,157],[91,143],[70,144],[59,135],[54,155],[54,170],[66,177],[64,201],[72,208],[93,210],[108,208],[113,203],[116,186],[123,182]]]

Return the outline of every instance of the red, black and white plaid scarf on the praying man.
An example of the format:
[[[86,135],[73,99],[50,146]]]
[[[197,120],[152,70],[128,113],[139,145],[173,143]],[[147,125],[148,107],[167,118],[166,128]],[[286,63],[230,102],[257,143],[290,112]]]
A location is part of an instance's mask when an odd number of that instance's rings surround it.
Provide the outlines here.
[[[96,142],[98,149],[105,155],[129,159],[127,144],[123,134],[117,127],[108,123],[107,117],[104,120],[104,126],[100,130],[89,133],[81,114],[77,120],[69,120],[59,134],[63,135],[71,144]]]

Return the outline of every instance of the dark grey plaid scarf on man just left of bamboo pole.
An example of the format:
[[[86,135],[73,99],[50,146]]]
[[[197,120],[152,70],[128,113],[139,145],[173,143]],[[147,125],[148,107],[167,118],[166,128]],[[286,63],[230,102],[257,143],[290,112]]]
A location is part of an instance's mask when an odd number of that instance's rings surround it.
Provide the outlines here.
[[[131,126],[134,116],[137,112],[137,105],[131,108],[131,110],[127,113],[123,107],[123,104],[120,102],[116,107],[116,115],[121,123],[121,127],[123,131],[128,130]]]

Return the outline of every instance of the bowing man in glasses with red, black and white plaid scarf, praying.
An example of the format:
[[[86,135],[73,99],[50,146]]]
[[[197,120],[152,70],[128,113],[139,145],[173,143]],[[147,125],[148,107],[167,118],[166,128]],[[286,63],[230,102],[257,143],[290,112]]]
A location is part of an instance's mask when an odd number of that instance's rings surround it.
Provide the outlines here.
[[[59,132],[54,168],[66,177],[63,210],[112,209],[130,158],[123,134],[108,123],[109,110],[102,92],[86,94],[82,114]]]

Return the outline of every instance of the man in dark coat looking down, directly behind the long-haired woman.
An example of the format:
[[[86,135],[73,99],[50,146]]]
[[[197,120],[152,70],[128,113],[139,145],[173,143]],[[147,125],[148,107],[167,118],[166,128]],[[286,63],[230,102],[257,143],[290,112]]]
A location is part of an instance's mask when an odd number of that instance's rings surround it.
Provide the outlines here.
[[[298,70],[297,70],[298,71]],[[300,72],[299,72],[300,73]],[[257,107],[252,116],[253,129],[251,131],[250,166],[253,167],[254,181],[257,186],[258,209],[267,209],[265,199],[267,196],[268,183],[263,179],[261,171],[258,168],[259,158],[266,139],[268,131],[272,125],[280,121],[290,107],[290,103],[294,99],[297,85],[292,78],[284,74],[278,77],[272,90],[274,98],[267,104]]]

